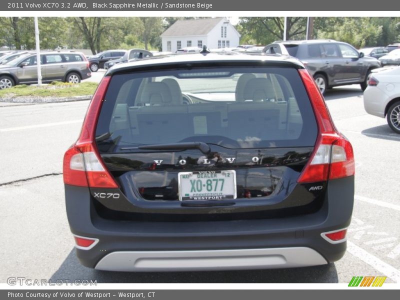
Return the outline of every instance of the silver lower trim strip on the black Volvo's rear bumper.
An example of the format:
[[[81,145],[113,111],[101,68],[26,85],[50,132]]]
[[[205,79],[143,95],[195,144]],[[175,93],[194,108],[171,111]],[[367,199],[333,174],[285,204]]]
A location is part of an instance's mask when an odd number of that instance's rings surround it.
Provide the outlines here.
[[[108,271],[184,271],[284,268],[326,264],[307,247],[192,251],[115,251],[95,266]]]

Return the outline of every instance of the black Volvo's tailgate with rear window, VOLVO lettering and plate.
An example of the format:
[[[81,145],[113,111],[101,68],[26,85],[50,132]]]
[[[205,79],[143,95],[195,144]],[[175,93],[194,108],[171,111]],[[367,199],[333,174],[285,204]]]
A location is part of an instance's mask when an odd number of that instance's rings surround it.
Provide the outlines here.
[[[319,209],[332,143],[340,137],[311,77],[297,68],[232,62],[106,77],[93,113],[98,117],[91,118],[95,145],[79,148],[84,164],[94,163],[85,169],[98,213],[193,221]],[[316,104],[310,97],[319,97]],[[208,149],[182,146],[198,143]],[[344,142],[339,148],[344,151]],[[343,169],[340,149],[337,173]]]

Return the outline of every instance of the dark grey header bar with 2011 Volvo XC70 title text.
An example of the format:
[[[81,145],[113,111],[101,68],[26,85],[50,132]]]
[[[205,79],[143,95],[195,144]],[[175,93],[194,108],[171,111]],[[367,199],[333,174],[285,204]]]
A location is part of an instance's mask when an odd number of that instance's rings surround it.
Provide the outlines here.
[[[393,0],[2,0],[0,11],[386,11]]]

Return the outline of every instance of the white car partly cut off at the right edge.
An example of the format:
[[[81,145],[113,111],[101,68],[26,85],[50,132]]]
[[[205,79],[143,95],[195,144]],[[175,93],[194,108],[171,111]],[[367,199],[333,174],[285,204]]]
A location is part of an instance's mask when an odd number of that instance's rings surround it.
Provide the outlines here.
[[[400,134],[400,67],[372,73],[364,91],[364,108],[386,117],[389,127]]]

